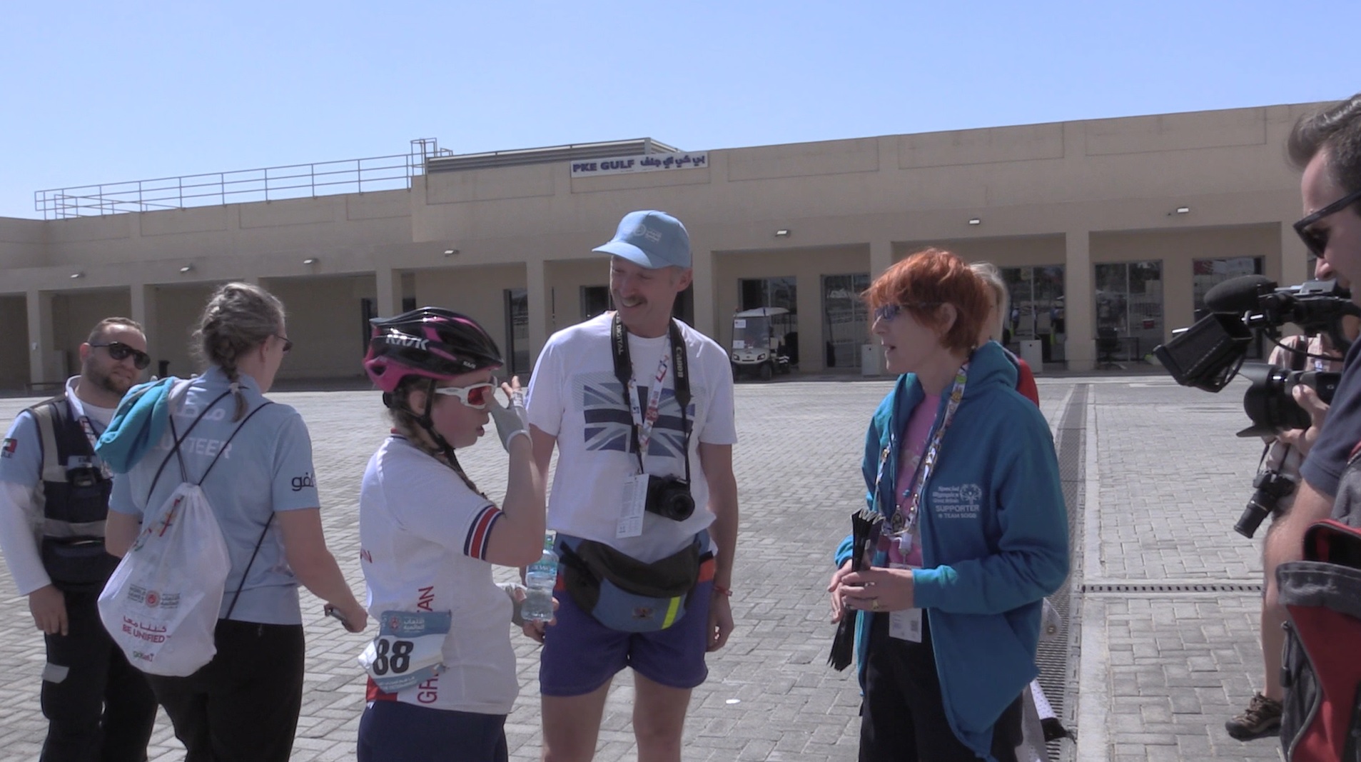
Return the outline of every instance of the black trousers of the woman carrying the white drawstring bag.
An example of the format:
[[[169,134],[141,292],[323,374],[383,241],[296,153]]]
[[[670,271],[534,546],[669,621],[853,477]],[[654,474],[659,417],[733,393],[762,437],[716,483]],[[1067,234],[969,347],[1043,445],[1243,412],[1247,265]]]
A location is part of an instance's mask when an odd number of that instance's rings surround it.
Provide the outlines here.
[[[302,710],[302,625],[219,619],[214,642],[193,675],[148,675],[185,762],[286,762]]]

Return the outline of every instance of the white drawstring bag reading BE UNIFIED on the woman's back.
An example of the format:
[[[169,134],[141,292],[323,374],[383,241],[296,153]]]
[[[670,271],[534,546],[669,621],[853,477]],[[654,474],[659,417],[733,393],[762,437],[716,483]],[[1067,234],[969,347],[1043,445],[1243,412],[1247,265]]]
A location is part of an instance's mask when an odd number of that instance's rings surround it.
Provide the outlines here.
[[[99,593],[99,618],[137,669],[192,675],[218,650],[214,629],[230,570],[208,497],[184,482],[159,516],[143,523],[109,577]]]

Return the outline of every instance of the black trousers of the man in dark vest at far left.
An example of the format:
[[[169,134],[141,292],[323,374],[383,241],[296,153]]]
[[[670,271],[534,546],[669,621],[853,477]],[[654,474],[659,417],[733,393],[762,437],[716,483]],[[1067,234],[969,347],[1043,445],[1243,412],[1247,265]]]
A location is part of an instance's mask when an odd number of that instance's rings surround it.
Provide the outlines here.
[[[157,699],[99,620],[99,592],[64,592],[67,634],[45,635],[42,762],[143,762]]]

